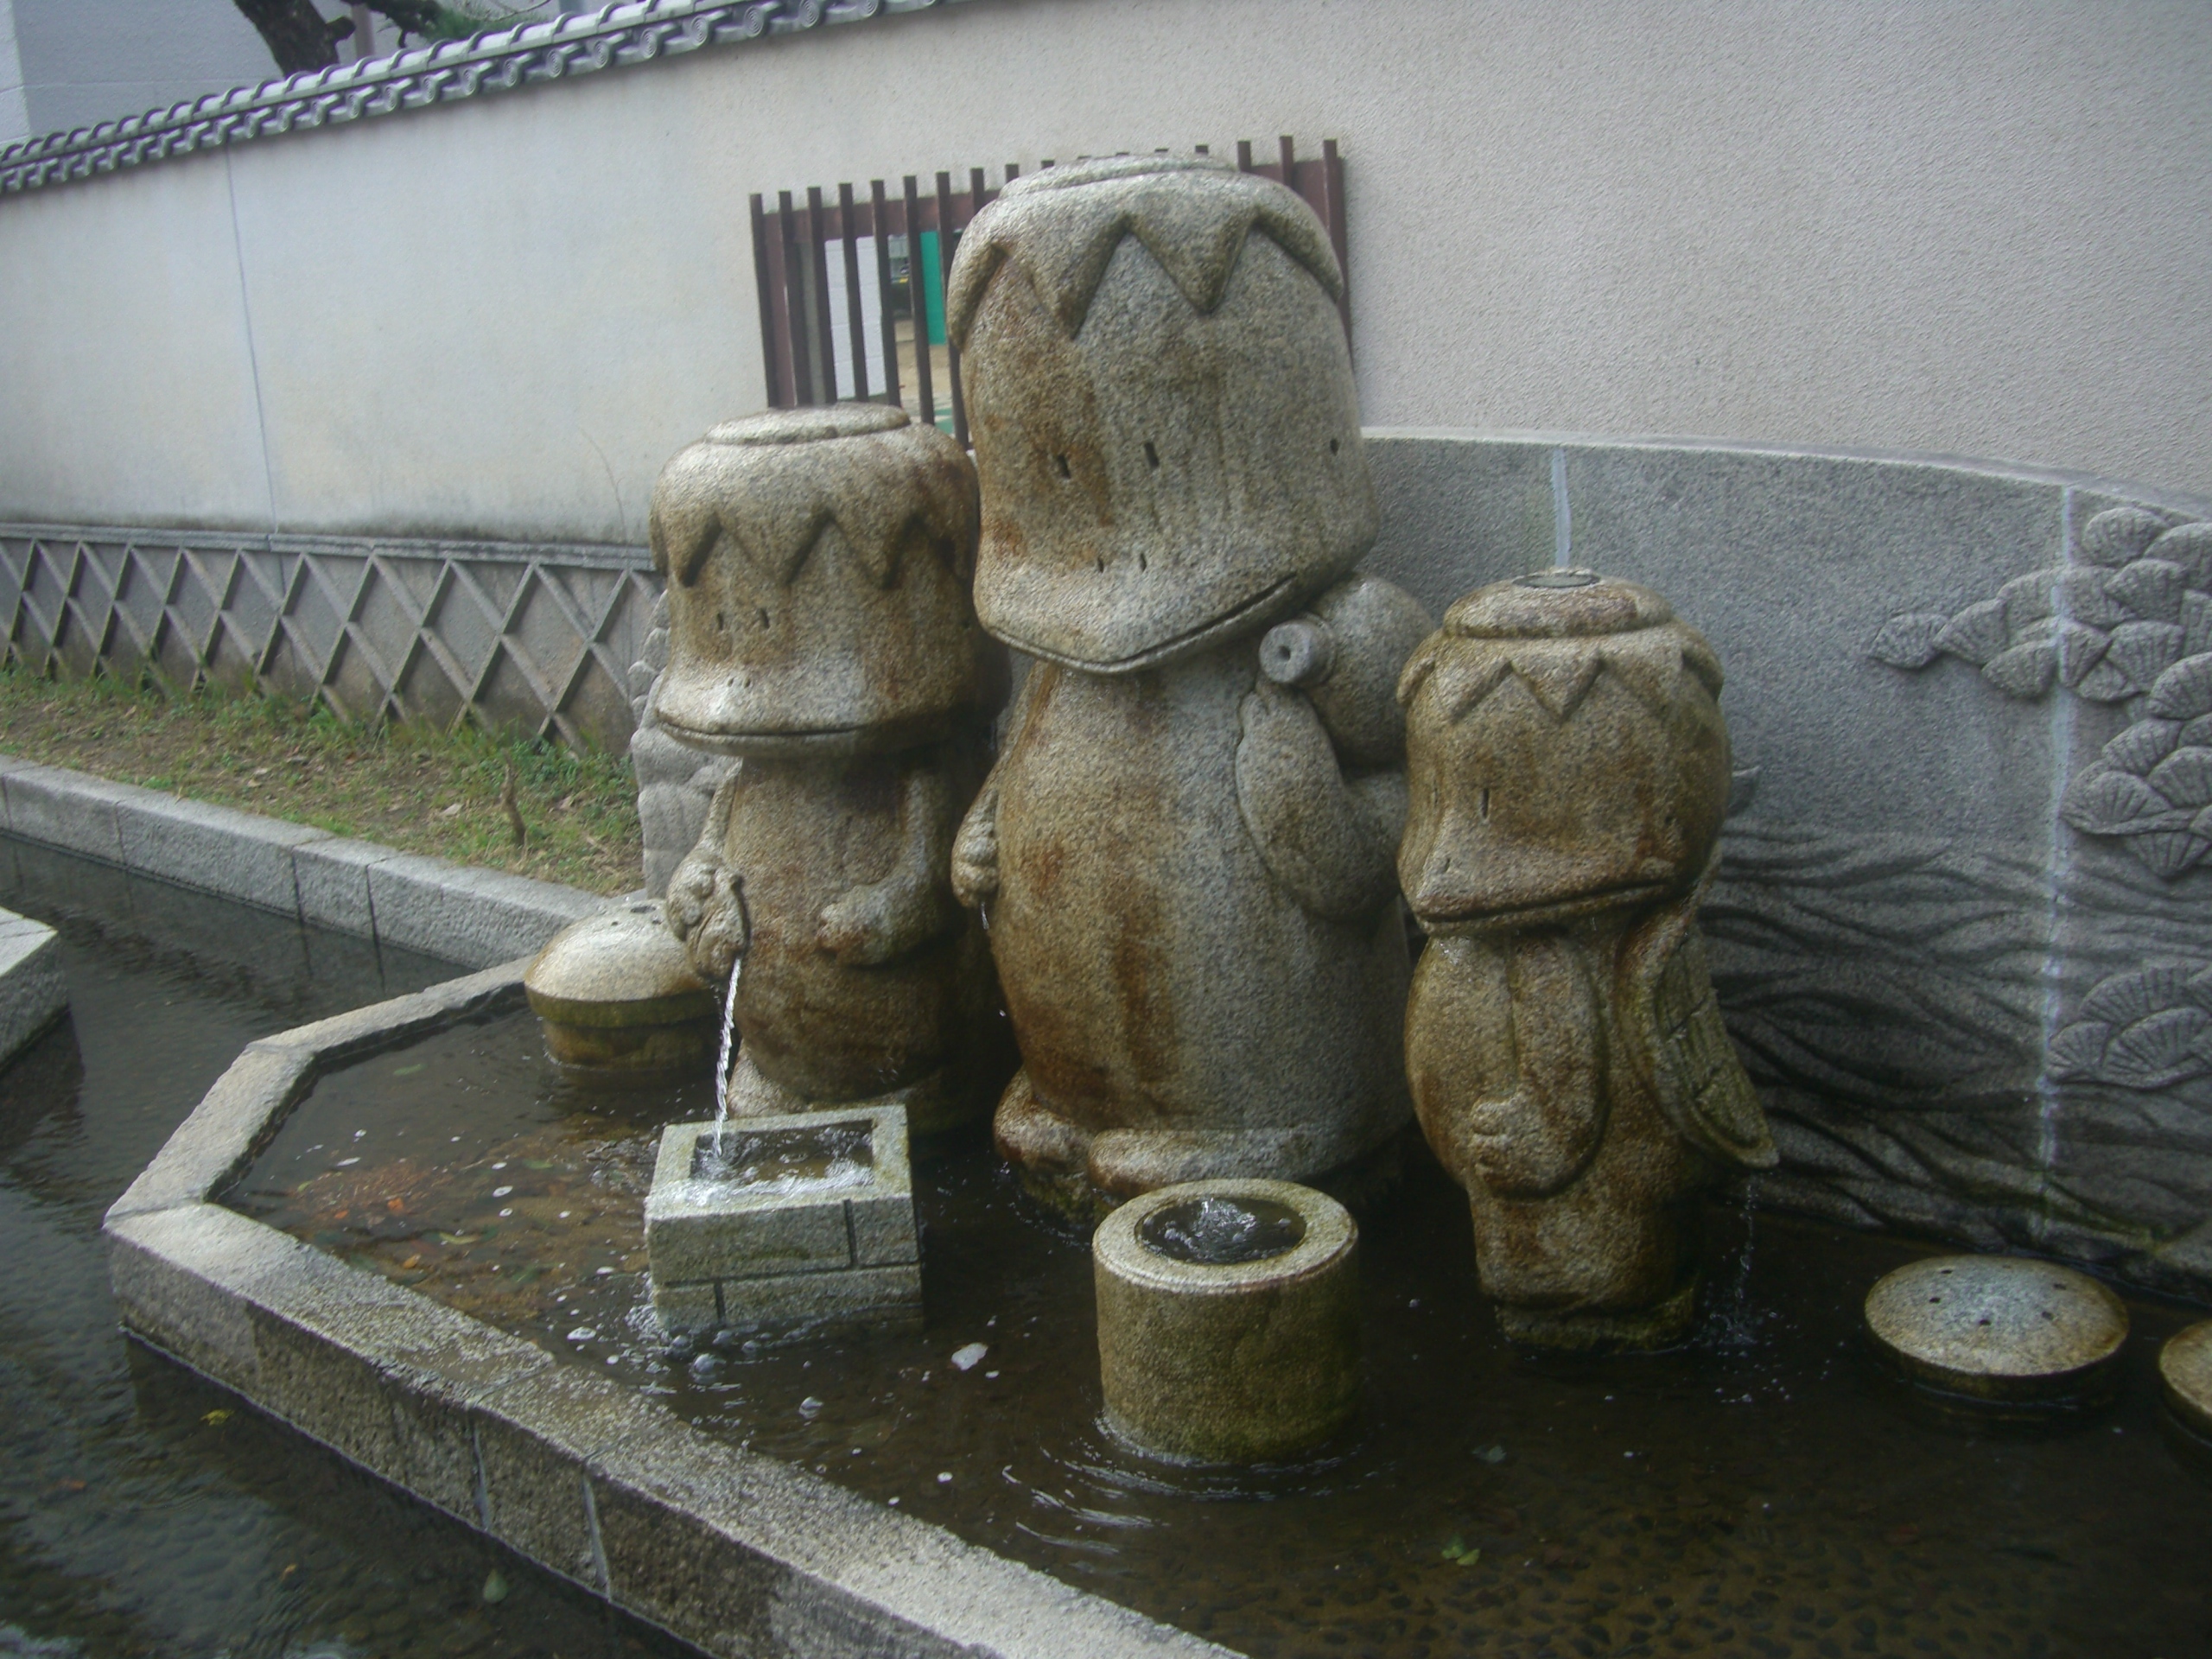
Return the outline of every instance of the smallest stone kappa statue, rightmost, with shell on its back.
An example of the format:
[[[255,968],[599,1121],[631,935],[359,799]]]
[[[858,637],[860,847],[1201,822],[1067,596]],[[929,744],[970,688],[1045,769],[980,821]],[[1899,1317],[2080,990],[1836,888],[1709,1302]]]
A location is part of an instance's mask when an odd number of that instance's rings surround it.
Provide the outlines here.
[[[1719,690],[1666,599],[1588,571],[1467,595],[1398,686],[1398,878],[1431,936],[1407,1073],[1515,1340],[1681,1336],[1703,1192],[1774,1164],[1697,931],[1728,810]]]

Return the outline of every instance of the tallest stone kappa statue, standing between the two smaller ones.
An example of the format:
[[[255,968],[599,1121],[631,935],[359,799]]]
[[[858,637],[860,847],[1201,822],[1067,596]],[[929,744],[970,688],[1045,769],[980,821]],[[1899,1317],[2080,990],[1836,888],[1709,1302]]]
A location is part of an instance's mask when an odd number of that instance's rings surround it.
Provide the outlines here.
[[[1037,657],[960,830],[1022,1048],[995,1139],[1073,1208],[1312,1179],[1409,1115],[1391,852],[1420,606],[1376,535],[1327,237],[1166,157],[1011,184],[953,261],[975,613]]]

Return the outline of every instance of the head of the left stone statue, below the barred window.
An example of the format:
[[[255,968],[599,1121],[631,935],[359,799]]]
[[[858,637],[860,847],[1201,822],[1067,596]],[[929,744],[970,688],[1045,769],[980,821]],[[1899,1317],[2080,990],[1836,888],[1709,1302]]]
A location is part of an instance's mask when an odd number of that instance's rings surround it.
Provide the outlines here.
[[[905,409],[838,403],[714,427],[653,487],[668,582],[655,714],[754,759],[942,737],[998,701],[975,626],[975,469]]]

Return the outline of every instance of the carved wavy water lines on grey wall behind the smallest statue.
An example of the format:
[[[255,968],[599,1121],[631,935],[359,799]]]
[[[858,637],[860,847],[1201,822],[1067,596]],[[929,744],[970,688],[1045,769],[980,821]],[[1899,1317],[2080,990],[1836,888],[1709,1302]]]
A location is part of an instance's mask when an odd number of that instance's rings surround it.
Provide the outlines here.
[[[2053,878],[2039,847],[1732,823],[1703,927],[1783,1150],[1761,1199],[2185,1283],[2168,1252],[2212,1214],[2212,1157],[2174,1150],[2212,1152],[2199,902],[2126,858]]]

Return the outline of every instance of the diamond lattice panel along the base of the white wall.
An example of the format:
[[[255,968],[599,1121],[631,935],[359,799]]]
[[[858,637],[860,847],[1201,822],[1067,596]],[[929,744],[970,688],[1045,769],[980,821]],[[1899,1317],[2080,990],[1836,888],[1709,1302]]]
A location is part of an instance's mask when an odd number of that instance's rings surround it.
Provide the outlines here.
[[[0,526],[9,661],[630,741],[644,549]]]

